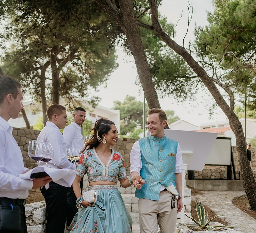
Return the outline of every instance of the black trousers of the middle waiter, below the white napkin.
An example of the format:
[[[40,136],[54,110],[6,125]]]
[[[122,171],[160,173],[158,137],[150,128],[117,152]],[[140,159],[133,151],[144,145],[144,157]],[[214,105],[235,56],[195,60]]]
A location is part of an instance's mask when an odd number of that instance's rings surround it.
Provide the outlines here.
[[[46,233],[63,233],[67,215],[67,188],[50,182],[50,187],[40,188],[47,212]]]

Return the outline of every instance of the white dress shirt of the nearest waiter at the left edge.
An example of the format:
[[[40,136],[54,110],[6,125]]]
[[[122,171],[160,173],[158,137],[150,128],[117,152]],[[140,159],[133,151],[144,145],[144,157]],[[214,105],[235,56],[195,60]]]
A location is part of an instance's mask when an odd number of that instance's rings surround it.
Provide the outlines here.
[[[17,177],[27,170],[12,126],[0,116],[0,197],[25,199],[33,181]]]

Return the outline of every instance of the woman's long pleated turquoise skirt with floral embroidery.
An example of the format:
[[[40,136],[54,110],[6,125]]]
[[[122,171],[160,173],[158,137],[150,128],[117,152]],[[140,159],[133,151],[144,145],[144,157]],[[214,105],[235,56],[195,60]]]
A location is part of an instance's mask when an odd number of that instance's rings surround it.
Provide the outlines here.
[[[78,210],[68,228],[70,233],[131,233],[132,218],[116,185],[93,185],[97,201]]]

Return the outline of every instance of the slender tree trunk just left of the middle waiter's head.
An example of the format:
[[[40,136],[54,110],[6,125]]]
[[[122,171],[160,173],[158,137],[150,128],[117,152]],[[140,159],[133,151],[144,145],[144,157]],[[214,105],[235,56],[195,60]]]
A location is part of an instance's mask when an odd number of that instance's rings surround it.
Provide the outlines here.
[[[45,72],[50,62],[46,62],[41,68],[41,77],[40,77],[40,93],[41,93],[41,101],[42,101],[42,110],[43,110],[43,123],[45,126],[47,119],[46,111],[47,111],[47,101],[45,97]]]

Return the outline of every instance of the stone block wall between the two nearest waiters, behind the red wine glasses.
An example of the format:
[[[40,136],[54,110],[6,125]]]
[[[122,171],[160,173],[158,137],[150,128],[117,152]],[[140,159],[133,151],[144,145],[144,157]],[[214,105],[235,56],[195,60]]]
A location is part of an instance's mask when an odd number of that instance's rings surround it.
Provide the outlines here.
[[[27,128],[14,128],[12,131],[12,135],[14,136],[20,147],[23,156],[24,166],[27,168],[33,168],[37,166],[36,161],[28,156],[28,143],[31,140],[36,140],[39,133],[40,131],[38,130]]]

